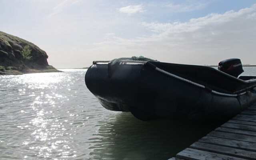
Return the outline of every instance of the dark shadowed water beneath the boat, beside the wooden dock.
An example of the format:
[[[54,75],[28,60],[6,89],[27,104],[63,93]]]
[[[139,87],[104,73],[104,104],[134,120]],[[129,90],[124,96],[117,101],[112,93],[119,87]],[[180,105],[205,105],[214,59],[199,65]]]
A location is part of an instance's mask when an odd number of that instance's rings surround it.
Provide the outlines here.
[[[144,122],[130,113],[120,113],[98,122],[96,137],[89,139],[94,144],[90,155],[97,160],[166,160],[218,125],[178,120]]]

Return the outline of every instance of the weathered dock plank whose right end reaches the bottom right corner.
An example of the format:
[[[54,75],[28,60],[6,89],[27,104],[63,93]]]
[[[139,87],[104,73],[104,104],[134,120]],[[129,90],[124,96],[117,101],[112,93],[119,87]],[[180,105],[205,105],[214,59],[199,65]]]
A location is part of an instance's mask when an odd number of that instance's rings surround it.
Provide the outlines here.
[[[207,152],[214,152],[214,153],[218,153],[218,154],[224,154],[226,156],[245,158],[248,160],[256,159],[256,152],[241,150],[241,149],[237,149],[237,148],[218,146],[218,145],[214,145],[214,144],[195,142],[190,146],[190,148],[197,149],[197,150],[203,150],[203,151],[207,151]]]

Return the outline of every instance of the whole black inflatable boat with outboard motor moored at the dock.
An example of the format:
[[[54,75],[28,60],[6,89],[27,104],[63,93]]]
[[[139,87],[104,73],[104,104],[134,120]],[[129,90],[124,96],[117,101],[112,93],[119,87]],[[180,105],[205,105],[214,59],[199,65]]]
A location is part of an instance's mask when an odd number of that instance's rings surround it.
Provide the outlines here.
[[[240,76],[240,59],[207,66],[156,61],[94,61],[87,88],[108,110],[132,112],[140,120],[185,118],[220,121],[256,102],[256,77]]]

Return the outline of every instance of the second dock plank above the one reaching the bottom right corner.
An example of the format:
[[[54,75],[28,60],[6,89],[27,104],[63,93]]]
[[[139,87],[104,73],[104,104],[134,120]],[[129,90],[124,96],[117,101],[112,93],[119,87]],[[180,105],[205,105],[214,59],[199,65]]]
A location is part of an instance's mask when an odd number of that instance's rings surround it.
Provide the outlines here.
[[[240,140],[244,142],[254,142],[256,143],[256,138],[254,136],[246,136],[242,134],[234,134],[234,133],[226,133],[226,132],[218,132],[212,131],[207,136],[218,137],[218,138],[226,138],[230,140]]]

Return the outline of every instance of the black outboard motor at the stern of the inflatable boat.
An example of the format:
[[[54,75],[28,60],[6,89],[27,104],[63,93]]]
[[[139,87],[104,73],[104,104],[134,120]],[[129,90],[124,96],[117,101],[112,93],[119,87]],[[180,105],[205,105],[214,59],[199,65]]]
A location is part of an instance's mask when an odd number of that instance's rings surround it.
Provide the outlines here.
[[[238,78],[238,76],[244,72],[242,62],[238,58],[230,58],[220,61],[218,70],[225,72],[231,76]]]

